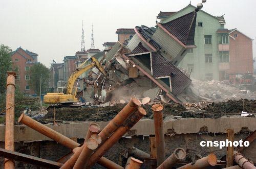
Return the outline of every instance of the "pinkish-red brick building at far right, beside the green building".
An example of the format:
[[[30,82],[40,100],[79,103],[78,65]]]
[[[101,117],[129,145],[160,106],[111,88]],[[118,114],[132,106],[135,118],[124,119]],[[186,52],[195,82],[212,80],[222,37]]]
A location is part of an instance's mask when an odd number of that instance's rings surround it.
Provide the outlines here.
[[[234,84],[251,83],[252,79],[250,77],[253,74],[253,39],[237,29],[230,30],[229,37],[229,80]]]

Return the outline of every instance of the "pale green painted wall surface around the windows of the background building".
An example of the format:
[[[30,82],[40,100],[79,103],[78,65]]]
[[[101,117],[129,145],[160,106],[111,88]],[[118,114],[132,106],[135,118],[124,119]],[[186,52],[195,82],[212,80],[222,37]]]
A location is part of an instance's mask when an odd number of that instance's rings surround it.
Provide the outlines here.
[[[185,15],[195,8],[191,5],[167,17],[162,22],[168,22],[177,17]],[[198,27],[198,22],[203,22],[203,27]],[[193,53],[188,53],[179,63],[178,67],[188,69],[188,64],[194,64],[191,78],[205,80],[205,74],[212,74],[214,80],[219,80],[219,55],[218,55],[218,37],[217,30],[223,28],[219,20],[203,11],[197,13],[195,45]],[[204,44],[204,35],[212,36],[212,44]],[[205,63],[205,54],[212,54],[212,63]]]

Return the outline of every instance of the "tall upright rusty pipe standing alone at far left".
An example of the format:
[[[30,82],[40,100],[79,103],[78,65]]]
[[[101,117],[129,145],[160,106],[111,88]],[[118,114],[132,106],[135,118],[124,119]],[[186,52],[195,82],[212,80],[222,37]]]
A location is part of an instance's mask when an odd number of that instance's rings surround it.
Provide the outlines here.
[[[14,104],[15,104],[15,72],[7,72],[6,83],[6,115],[5,115],[5,149],[14,151]],[[13,106],[13,107],[12,107]],[[11,108],[10,108],[11,107]],[[14,169],[14,161],[5,159],[5,169]]]

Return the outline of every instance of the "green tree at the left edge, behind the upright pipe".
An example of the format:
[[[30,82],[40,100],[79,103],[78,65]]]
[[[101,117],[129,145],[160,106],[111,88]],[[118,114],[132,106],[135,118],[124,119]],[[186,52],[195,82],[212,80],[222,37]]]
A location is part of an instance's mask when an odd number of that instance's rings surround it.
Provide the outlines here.
[[[6,91],[7,71],[12,70],[10,52],[12,50],[9,46],[0,45],[0,96],[4,95]]]

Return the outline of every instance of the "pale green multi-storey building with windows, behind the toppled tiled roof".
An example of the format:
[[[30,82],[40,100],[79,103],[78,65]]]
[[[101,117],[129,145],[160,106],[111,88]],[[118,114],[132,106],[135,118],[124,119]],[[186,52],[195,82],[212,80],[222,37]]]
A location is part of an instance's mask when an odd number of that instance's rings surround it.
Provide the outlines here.
[[[167,23],[195,9],[196,7],[189,4],[176,13],[170,12],[170,16],[165,18],[161,16],[160,23]],[[187,69],[189,74],[191,73],[191,78],[203,81],[213,79],[220,80],[220,71],[222,70],[219,64],[219,43],[221,42],[219,42],[219,38],[226,34],[221,34],[218,31],[224,29],[224,25],[225,20],[223,16],[212,16],[203,10],[197,12],[195,30],[195,45],[197,48],[189,49],[186,56],[178,65],[178,67]]]

